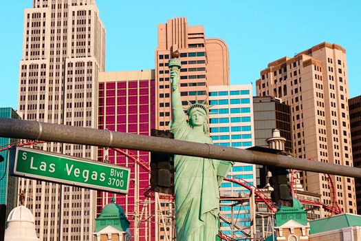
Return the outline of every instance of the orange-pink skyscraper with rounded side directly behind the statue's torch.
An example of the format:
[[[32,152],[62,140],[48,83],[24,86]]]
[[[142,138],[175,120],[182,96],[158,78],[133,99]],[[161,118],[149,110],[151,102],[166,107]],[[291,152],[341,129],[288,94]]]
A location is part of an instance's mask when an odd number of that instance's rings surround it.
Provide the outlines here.
[[[208,86],[229,85],[228,47],[221,39],[206,39],[202,25],[190,26],[187,19],[175,18],[158,25],[155,50],[156,128],[168,130],[171,121],[171,89],[168,61],[178,50],[182,61],[180,88],[183,105],[204,101]]]

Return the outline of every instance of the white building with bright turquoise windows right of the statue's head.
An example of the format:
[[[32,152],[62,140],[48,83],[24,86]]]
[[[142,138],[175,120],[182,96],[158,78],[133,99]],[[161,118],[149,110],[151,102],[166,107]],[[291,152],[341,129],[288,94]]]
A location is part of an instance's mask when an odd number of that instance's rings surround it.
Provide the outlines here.
[[[209,87],[210,137],[215,145],[246,149],[254,145],[252,85],[215,85]],[[255,165],[235,163],[229,175],[236,180],[255,185]],[[245,233],[234,231],[237,227],[250,227],[250,191],[232,182],[224,181],[220,187],[221,231],[223,234],[244,238]],[[244,197],[241,205],[232,198]],[[233,210],[231,210],[233,209]],[[232,217],[232,213],[233,217]],[[237,230],[237,229],[236,229]]]

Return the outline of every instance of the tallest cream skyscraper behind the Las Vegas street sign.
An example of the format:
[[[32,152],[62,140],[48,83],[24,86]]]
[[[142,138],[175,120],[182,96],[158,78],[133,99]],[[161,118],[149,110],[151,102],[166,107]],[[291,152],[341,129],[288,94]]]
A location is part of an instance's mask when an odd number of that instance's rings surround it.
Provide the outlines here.
[[[34,0],[24,14],[19,111],[25,120],[97,128],[105,28],[94,0]],[[45,143],[47,151],[96,159],[95,147]],[[20,178],[41,240],[91,240],[95,193]]]

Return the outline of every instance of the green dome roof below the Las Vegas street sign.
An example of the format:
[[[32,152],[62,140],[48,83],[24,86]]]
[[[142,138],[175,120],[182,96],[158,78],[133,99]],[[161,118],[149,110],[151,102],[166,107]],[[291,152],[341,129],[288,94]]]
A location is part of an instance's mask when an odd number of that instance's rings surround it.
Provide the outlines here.
[[[129,221],[125,216],[124,209],[116,204],[115,198],[111,198],[111,203],[106,205],[98,218],[96,218],[96,232],[111,226],[119,231],[127,231],[129,229]]]

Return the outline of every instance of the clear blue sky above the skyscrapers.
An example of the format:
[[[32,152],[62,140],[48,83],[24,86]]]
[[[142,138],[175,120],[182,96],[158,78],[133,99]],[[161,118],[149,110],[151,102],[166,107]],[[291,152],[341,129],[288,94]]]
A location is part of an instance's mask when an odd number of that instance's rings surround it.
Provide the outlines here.
[[[96,0],[107,30],[107,71],[154,68],[157,24],[187,17],[230,52],[231,84],[255,84],[267,63],[327,41],[347,50],[350,97],[361,94],[361,1]],[[0,107],[17,109],[23,10],[32,0],[1,2]]]

